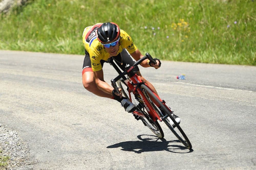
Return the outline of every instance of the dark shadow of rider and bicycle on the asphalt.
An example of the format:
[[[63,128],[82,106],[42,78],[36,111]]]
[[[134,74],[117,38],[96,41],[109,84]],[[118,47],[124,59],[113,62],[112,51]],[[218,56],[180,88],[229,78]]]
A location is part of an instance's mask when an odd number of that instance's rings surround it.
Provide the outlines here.
[[[142,138],[142,136],[150,136],[151,138]],[[138,135],[137,138],[140,139],[141,141],[120,142],[110,145],[107,148],[121,147],[122,151],[129,151],[134,153],[152,151],[168,151],[174,153],[193,152],[193,149],[188,150],[185,146],[182,146],[182,143],[179,140],[166,141],[165,139],[159,139],[158,137],[153,135]],[[177,142],[180,143],[181,145],[177,145]]]

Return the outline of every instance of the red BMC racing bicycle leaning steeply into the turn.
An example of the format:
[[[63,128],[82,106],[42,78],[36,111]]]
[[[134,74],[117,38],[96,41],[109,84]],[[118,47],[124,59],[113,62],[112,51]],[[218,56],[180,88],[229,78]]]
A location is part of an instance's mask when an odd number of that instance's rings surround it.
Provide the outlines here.
[[[118,88],[122,89],[123,96],[130,99],[130,101],[137,108],[132,113],[133,116],[137,120],[141,120],[143,124],[147,126],[157,137],[164,138],[164,132],[158,121],[164,122],[179,139],[179,141],[182,142],[185,147],[191,149],[192,145],[188,137],[172,116],[173,110],[168,107],[165,101],[160,99],[159,96],[154,93],[146,83],[142,82],[137,74],[133,75],[132,77],[128,76],[129,72],[146,58],[156,64],[151,55],[146,53],[144,57],[139,59],[133,66],[124,72],[122,72],[121,69],[114,63],[113,58],[110,58],[107,62],[110,63],[119,73],[119,76],[111,79],[111,84],[116,92],[119,92]],[[160,105],[164,109],[166,113],[165,115],[162,114],[156,104]],[[166,120],[167,117],[170,117],[170,119],[174,122],[174,127]]]

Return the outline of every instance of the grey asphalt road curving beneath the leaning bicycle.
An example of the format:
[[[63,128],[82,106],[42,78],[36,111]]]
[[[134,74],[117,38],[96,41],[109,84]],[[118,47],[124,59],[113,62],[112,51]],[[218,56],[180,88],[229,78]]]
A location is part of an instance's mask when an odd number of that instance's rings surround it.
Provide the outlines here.
[[[256,67],[140,67],[181,118],[188,150],[164,123],[161,141],[120,103],[86,91],[83,59],[0,51],[0,124],[18,131],[33,169],[256,169]],[[107,82],[117,75],[103,70]]]

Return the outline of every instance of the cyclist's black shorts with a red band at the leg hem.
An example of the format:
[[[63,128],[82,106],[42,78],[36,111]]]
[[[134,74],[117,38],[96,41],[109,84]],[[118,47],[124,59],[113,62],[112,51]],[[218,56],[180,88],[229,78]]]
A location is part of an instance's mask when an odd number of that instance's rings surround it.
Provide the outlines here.
[[[113,56],[113,58],[114,58],[116,65],[118,65],[123,71],[129,69],[135,63],[135,61],[132,59],[132,56],[129,54],[129,52],[125,48],[123,49],[123,51],[121,53],[119,53],[116,56]],[[102,68],[103,68],[103,64],[105,62],[106,62],[105,60],[100,60]],[[123,64],[121,64],[121,63],[123,63]],[[92,71],[92,65],[91,65],[90,55],[85,50],[82,74],[87,71]],[[137,72],[137,71],[139,71],[138,66],[134,67],[132,72]]]

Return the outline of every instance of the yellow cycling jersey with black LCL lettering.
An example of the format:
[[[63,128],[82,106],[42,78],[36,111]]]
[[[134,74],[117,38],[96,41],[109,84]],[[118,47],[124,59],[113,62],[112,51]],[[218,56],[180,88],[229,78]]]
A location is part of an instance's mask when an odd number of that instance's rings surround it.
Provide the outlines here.
[[[90,55],[93,71],[101,70],[102,66],[100,61],[106,61],[110,57],[109,53],[105,50],[105,47],[98,41],[96,37],[97,28],[101,25],[102,23],[97,23],[94,26],[86,27],[83,31],[83,45]],[[130,54],[135,52],[137,49],[130,35],[128,35],[124,30],[120,29],[118,54],[122,52],[123,48],[126,48]]]

